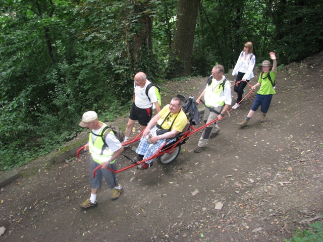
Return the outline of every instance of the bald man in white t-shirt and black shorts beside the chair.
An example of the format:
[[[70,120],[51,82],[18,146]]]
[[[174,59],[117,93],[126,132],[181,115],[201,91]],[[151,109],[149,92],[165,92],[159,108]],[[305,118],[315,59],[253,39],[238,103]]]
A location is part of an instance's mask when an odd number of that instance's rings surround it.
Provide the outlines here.
[[[131,106],[129,120],[125,132],[125,141],[130,138],[130,134],[136,120],[138,120],[139,125],[141,125],[141,130],[143,130],[147,126],[152,116],[152,104],[155,105],[157,113],[160,111],[155,89],[150,88],[148,90],[149,98],[146,95],[146,88],[151,83],[146,79],[146,74],[144,74],[143,72],[138,72],[133,80],[133,103]],[[125,145],[124,147],[128,147],[128,145]]]

